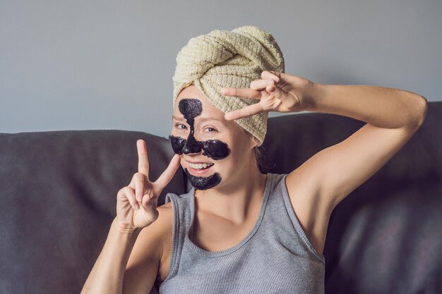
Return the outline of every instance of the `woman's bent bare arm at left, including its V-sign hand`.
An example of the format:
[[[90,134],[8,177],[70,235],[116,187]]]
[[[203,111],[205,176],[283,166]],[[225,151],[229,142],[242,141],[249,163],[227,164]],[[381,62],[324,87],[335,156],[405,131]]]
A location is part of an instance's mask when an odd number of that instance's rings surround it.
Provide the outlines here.
[[[155,281],[163,236],[172,226],[170,209],[157,207],[157,200],[177,171],[180,157],[175,154],[151,182],[145,142],[138,140],[137,147],[138,172],[117,193],[117,217],[81,294],[142,294]]]

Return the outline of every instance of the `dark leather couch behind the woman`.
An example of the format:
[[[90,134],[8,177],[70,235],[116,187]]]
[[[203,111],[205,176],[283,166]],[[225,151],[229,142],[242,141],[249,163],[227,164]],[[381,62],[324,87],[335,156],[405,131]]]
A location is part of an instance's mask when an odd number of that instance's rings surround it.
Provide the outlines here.
[[[362,125],[333,114],[269,118],[263,172],[289,173]],[[0,293],[80,293],[116,215],[117,191],[137,171],[140,138],[155,180],[173,155],[164,137],[0,133]],[[180,168],[159,205],[167,192],[189,188]],[[324,256],[325,293],[442,293],[442,102],[429,102],[407,145],[338,204]]]

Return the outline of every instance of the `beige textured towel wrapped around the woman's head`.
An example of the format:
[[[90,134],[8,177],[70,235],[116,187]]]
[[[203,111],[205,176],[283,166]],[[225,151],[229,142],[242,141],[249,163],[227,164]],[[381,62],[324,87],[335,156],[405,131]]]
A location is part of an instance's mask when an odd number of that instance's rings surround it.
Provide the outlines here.
[[[249,88],[261,79],[262,71],[284,73],[284,58],[270,33],[259,27],[245,25],[229,30],[213,30],[193,37],[177,54],[173,106],[184,87],[195,85],[210,104],[223,113],[259,102],[257,99],[223,96],[222,87]],[[235,120],[261,146],[267,133],[268,113]]]

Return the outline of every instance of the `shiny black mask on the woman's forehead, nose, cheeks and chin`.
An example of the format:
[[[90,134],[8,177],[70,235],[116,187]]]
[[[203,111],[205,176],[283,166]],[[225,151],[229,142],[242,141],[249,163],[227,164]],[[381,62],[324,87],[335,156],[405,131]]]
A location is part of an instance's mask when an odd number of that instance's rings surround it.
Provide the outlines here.
[[[191,131],[187,139],[169,135],[172,149],[177,154],[193,154],[203,150],[203,155],[211,159],[220,160],[226,158],[230,149],[225,142],[220,140],[197,141],[193,136],[195,133],[195,118],[203,113],[203,104],[199,99],[182,99],[178,104],[178,109],[187,123],[191,127]],[[207,190],[219,184],[222,180],[220,173],[214,173],[208,177],[193,176],[187,169],[184,169],[189,181],[198,190]]]

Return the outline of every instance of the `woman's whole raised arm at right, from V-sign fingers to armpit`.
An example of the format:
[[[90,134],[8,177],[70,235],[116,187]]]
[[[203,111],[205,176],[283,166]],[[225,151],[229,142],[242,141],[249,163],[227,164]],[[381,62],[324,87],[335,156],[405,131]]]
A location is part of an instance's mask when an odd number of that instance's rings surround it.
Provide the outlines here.
[[[227,120],[263,111],[315,111],[348,116],[366,125],[346,140],[314,154],[286,177],[301,226],[322,252],[335,206],[381,169],[417,132],[428,103],[406,90],[369,85],[320,85],[287,73],[263,71],[250,89],[225,87],[226,96],[258,99],[225,114]]]

